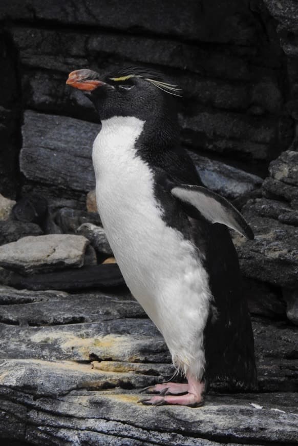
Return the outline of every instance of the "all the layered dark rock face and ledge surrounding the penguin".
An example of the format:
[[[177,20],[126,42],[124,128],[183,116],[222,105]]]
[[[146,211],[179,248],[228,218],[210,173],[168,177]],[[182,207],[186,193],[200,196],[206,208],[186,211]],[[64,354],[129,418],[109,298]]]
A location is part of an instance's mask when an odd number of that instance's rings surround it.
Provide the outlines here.
[[[294,444],[298,391],[298,6],[294,0],[0,5],[0,438],[12,444]],[[233,234],[260,393],[147,408],[171,378],[94,202],[100,124],[70,71],[155,67],[182,144],[256,237]]]

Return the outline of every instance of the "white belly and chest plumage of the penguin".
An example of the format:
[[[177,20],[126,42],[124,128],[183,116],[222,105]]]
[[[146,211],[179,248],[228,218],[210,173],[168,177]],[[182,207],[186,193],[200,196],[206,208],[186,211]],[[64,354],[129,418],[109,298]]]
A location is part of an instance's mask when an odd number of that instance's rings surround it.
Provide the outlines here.
[[[201,351],[203,367],[208,277],[196,248],[162,219],[152,171],[134,148],[143,125],[134,117],[103,121],[93,146],[97,206],[127,286],[163,334],[174,363],[185,369]]]

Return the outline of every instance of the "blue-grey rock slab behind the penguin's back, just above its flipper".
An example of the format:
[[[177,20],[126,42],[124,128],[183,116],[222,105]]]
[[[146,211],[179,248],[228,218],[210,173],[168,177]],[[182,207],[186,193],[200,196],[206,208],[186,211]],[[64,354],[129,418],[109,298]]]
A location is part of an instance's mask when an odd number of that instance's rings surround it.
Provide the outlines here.
[[[238,198],[259,188],[263,179],[214,159],[188,151],[204,186],[227,198]]]

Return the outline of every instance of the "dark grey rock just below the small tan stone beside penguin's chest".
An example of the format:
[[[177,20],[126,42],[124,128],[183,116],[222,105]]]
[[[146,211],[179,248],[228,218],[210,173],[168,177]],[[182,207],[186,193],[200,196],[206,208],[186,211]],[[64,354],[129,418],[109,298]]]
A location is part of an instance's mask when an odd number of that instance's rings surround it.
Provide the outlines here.
[[[101,225],[100,217],[97,212],[86,212],[78,209],[59,209],[55,213],[54,219],[56,224],[61,228],[62,232],[70,234],[77,233],[78,228],[82,225]]]

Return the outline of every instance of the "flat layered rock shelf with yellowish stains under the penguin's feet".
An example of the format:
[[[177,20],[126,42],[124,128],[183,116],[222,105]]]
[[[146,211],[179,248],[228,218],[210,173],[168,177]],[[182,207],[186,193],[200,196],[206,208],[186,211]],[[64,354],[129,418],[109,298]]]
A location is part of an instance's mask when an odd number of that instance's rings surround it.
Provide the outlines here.
[[[205,406],[147,407],[173,375],[158,330],[124,289],[1,288],[2,444],[296,444],[297,331],[254,317],[259,393],[216,384]]]

